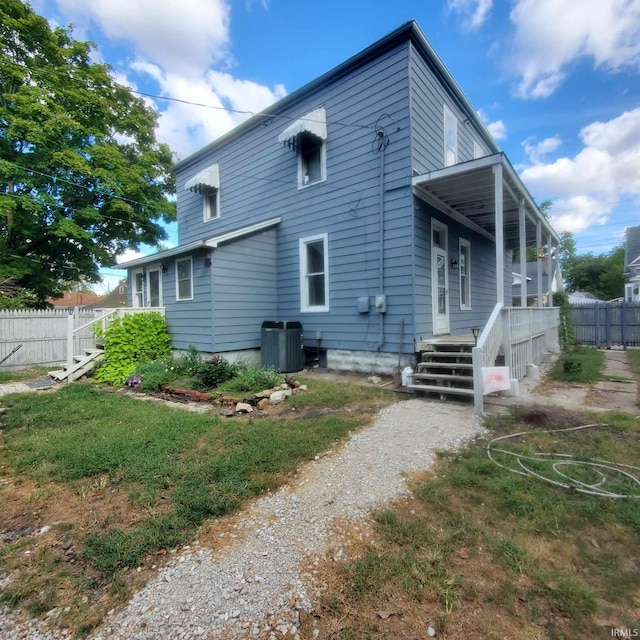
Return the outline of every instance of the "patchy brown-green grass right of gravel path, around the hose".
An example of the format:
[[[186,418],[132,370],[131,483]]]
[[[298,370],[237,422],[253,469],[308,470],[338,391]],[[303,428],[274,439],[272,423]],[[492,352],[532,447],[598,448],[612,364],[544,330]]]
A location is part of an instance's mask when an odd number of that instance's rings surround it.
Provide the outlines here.
[[[593,429],[545,433],[598,422]],[[375,535],[340,563],[329,561],[321,611],[303,636],[400,638],[604,638],[634,629],[640,606],[640,495],[627,477],[605,486],[636,496],[606,499],[524,477],[517,459],[487,456],[488,440],[520,456],[553,452],[579,460],[637,465],[634,416],[597,418],[552,407],[488,420],[491,436],[441,453],[411,498],[376,513]],[[539,456],[538,456],[539,457]],[[558,458],[562,459],[562,458]],[[551,464],[528,462],[543,476]],[[640,477],[640,470],[622,467]],[[585,482],[597,469],[562,468]]]

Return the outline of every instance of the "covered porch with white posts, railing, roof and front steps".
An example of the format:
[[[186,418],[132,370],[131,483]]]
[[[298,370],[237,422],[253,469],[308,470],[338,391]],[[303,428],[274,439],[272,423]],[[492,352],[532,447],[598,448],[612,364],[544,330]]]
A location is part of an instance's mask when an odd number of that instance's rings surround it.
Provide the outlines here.
[[[535,373],[536,367],[559,348],[559,310],[552,306],[550,296],[544,296],[544,291],[551,291],[552,258],[559,237],[503,153],[415,176],[412,187],[417,198],[487,238],[495,247],[495,304],[488,320],[474,330],[475,336],[438,336],[417,346],[420,352],[429,353],[448,342],[455,351],[468,351],[472,367],[468,367],[467,376],[472,375],[473,381],[460,393],[472,395],[476,409],[482,412],[484,395],[493,391],[485,382],[489,369],[502,367],[501,375],[506,377],[503,390],[517,394],[518,380]],[[518,250],[520,273],[526,273],[527,248],[532,246],[538,256],[537,307],[526,306],[526,278],[520,297],[524,306],[513,307],[511,299],[505,300],[501,276],[505,254]],[[546,283],[543,274],[548,274]],[[460,363],[465,358],[451,360]],[[421,363],[417,377],[420,367]],[[426,371],[427,365],[423,369]],[[448,379],[438,383],[445,387],[445,394],[455,377],[456,371],[451,369],[446,374]],[[413,386],[420,388],[418,384]]]

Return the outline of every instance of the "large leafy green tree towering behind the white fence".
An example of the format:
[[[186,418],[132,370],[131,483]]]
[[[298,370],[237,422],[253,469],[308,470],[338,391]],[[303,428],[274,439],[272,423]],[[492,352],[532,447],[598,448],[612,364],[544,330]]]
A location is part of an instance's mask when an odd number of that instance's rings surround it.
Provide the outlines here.
[[[93,48],[20,0],[0,5],[0,279],[41,306],[175,218],[157,116]]]

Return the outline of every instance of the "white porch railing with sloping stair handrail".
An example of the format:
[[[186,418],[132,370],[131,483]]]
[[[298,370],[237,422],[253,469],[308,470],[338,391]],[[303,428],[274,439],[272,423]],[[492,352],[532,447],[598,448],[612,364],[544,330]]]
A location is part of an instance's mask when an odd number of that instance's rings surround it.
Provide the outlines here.
[[[511,380],[527,375],[527,366],[541,364],[547,354],[560,349],[557,307],[503,307],[496,304],[473,349],[474,404],[483,411],[482,367],[495,366],[504,355]]]

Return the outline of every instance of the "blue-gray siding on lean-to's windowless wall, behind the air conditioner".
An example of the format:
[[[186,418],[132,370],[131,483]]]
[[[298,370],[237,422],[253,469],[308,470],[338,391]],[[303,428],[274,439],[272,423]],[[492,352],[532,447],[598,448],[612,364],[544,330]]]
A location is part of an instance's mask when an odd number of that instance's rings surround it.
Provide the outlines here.
[[[213,351],[260,347],[264,320],[278,320],[276,231],[213,252]]]

